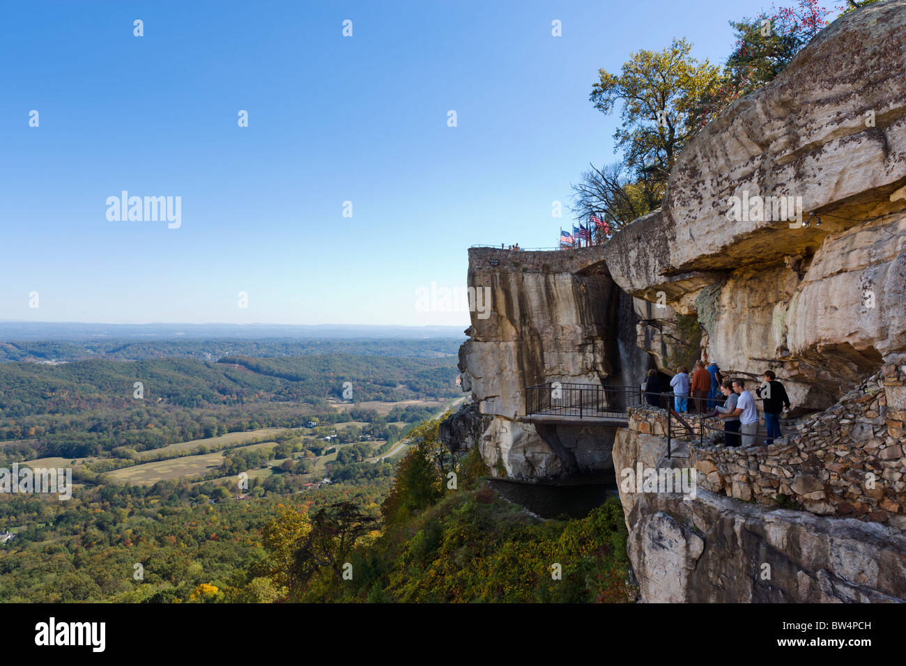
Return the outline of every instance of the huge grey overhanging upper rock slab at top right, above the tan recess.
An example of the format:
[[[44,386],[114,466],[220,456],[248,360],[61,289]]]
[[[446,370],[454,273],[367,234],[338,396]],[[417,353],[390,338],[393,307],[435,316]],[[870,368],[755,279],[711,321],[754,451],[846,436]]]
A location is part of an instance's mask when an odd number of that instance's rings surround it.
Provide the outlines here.
[[[843,217],[874,217],[890,208],[906,179],[904,10],[889,2],[844,15],[773,82],[689,141],[664,203],[669,271],[806,254],[828,231],[858,224],[728,221],[728,198],[744,192],[801,197],[806,215],[845,206],[851,214]]]

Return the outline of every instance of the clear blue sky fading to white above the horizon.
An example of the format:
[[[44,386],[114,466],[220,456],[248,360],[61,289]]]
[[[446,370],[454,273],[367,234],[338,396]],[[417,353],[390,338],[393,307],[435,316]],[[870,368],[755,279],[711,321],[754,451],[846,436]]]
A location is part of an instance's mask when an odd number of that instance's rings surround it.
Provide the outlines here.
[[[465,327],[416,290],[465,285],[470,245],[572,225],[571,182],[615,159],[598,68],[679,36],[722,62],[728,20],[769,7],[5,5],[0,319]],[[181,226],[108,220],[121,190],[180,197]]]

